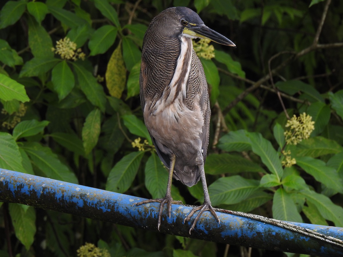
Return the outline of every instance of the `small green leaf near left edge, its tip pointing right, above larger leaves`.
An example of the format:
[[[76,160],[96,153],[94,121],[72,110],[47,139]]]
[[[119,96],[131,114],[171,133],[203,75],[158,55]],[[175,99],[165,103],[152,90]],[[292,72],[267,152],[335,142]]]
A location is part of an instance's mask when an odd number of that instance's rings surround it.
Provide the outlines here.
[[[49,121],[26,120],[18,123],[13,129],[14,140],[22,137],[34,136],[43,132]]]

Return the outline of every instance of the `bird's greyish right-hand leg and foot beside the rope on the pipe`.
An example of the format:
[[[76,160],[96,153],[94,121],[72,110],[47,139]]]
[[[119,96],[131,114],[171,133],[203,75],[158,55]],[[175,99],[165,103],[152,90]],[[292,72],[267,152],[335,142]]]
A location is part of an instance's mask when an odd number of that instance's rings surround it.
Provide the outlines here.
[[[199,211],[197,217],[194,219],[193,224],[189,230],[189,234],[191,234],[192,230],[194,230],[195,225],[197,224],[200,216],[202,215],[202,213],[204,211],[210,211],[212,213],[212,215],[214,216],[214,218],[218,221],[218,223],[220,223],[220,219],[218,218],[217,214],[215,213],[215,211],[211,205],[209,189],[207,188],[206,178],[205,178],[204,160],[203,160],[202,154],[200,152],[198,154],[197,161],[198,161],[197,165],[200,169],[200,177],[201,177],[201,182],[202,182],[202,188],[204,190],[204,203],[203,203],[203,205],[200,205],[198,207],[194,207],[190,211],[190,213],[188,213],[187,217],[184,220],[184,222],[186,223],[187,221],[190,220],[190,218],[194,215],[194,213],[196,211]]]

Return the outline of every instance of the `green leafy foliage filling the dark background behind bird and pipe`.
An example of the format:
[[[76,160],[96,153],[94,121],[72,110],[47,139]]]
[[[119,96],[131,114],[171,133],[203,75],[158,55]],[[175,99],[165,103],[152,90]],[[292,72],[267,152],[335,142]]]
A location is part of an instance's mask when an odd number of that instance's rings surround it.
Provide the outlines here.
[[[141,45],[155,15],[187,6],[237,45],[213,44],[215,57],[201,58],[212,108],[205,172],[213,205],[343,227],[342,5],[1,1],[0,167],[140,197],[164,196],[167,171],[154,152],[138,96]],[[58,54],[57,41],[65,37],[77,45],[76,60]],[[286,144],[287,116],[304,112],[315,130],[297,145]],[[291,151],[295,165],[282,166],[282,150]],[[172,196],[199,204],[201,183],[188,188],[174,181]],[[0,256],[76,256],[86,242],[111,256],[284,255],[19,204],[0,206]]]

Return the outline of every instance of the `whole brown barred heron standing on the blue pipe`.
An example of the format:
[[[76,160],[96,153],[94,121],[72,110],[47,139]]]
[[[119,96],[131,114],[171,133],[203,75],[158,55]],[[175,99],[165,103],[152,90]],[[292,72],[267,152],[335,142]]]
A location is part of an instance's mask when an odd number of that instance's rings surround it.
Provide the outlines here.
[[[204,69],[192,45],[192,39],[196,38],[236,46],[206,26],[199,15],[187,7],[162,11],[145,32],[139,79],[141,106],[145,126],[169,175],[164,198],[133,204],[160,203],[159,230],[164,205],[167,205],[170,218],[171,204],[182,204],[171,197],[172,179],[189,187],[201,179],[204,202],[194,207],[184,219],[184,223],[188,222],[199,210],[189,234],[206,210],[220,223],[211,205],[204,171],[211,109]]]

